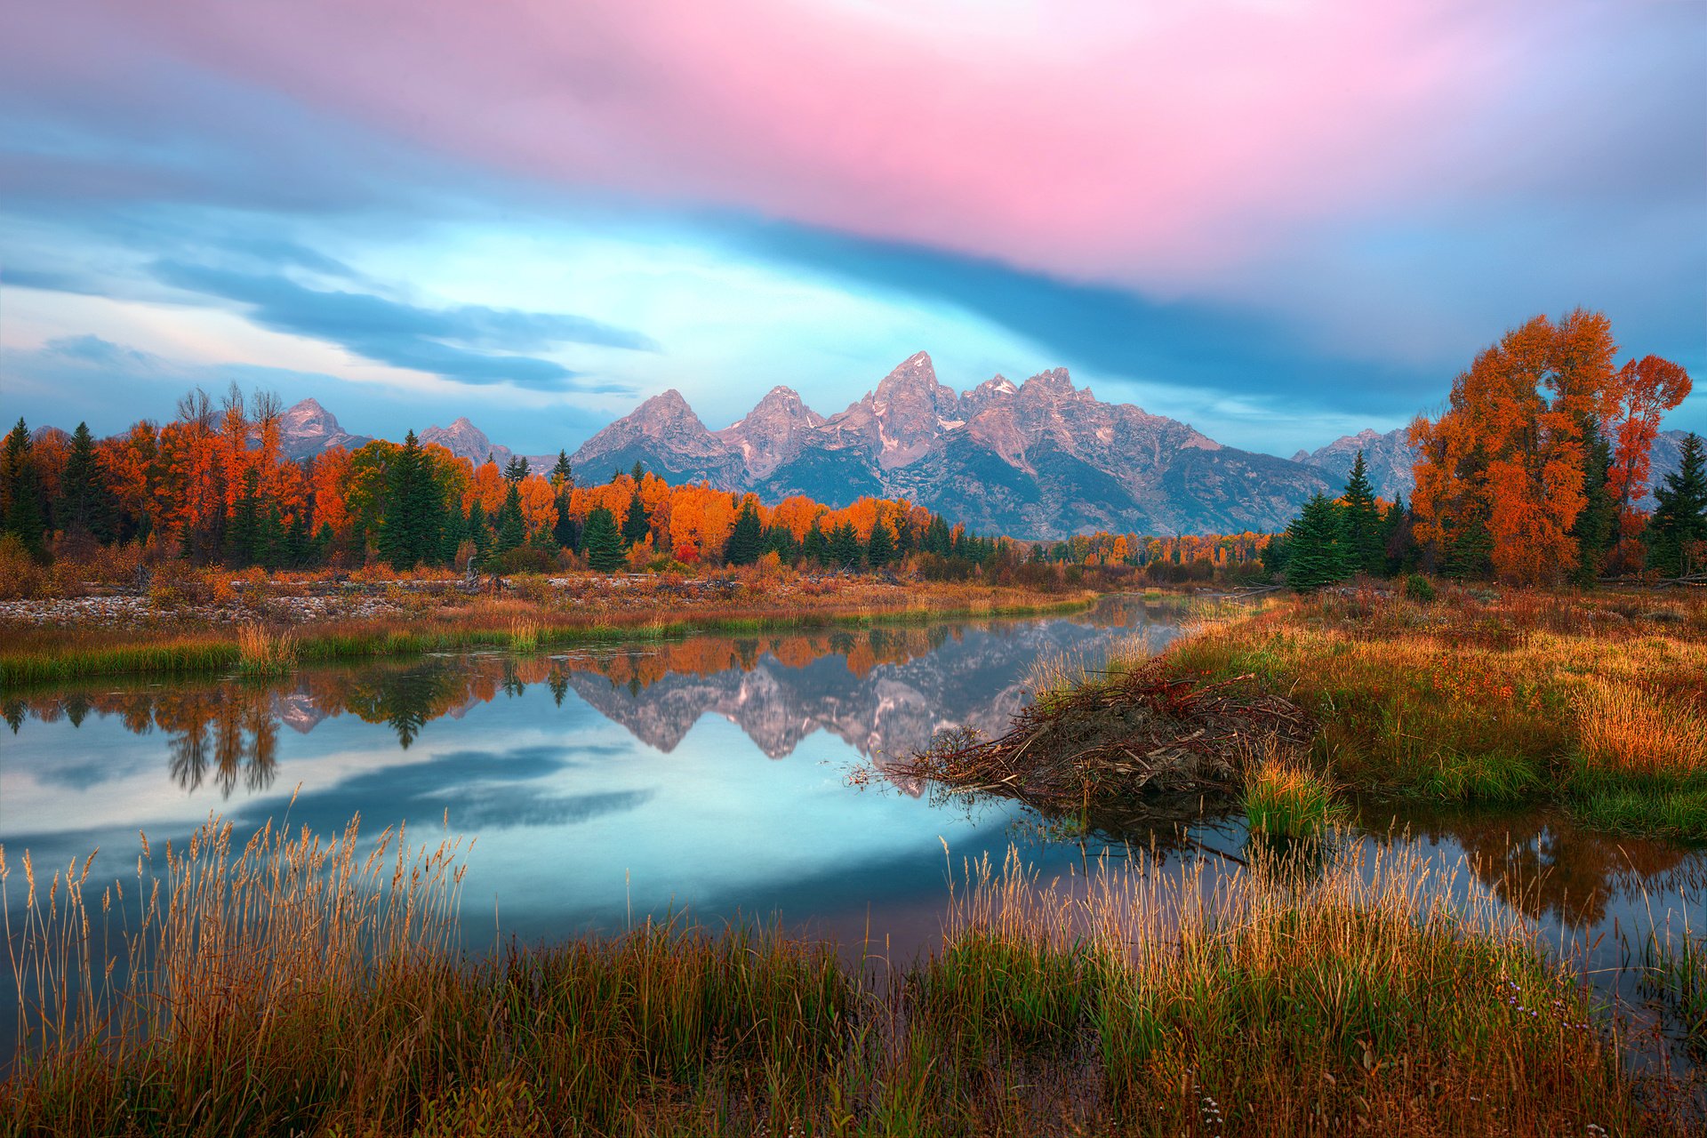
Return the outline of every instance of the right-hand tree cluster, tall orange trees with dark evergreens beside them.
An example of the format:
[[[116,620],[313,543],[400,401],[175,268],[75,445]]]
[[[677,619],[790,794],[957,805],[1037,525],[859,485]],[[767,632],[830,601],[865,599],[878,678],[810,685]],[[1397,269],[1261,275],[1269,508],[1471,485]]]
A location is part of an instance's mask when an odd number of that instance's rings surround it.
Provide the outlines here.
[[[1453,380],[1437,418],[1410,425],[1408,507],[1374,498],[1359,452],[1345,491],[1316,495],[1265,561],[1302,589],[1410,570],[1593,585],[1707,568],[1700,438],[1687,437],[1652,514],[1640,508],[1661,416],[1690,394],[1690,375],[1654,355],[1613,367],[1615,355],[1599,312],[1507,333]]]

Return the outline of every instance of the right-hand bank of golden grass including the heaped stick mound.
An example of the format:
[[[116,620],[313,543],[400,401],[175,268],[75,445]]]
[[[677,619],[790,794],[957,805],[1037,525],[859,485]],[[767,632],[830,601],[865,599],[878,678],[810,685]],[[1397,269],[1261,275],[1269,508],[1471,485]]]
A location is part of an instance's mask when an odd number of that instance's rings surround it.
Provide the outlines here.
[[[1229,606],[910,773],[1086,816],[1171,783],[1244,793],[1253,821],[1275,816],[1277,787],[1331,812],[1345,785],[1558,802],[1593,826],[1707,841],[1707,597],[1345,589]]]

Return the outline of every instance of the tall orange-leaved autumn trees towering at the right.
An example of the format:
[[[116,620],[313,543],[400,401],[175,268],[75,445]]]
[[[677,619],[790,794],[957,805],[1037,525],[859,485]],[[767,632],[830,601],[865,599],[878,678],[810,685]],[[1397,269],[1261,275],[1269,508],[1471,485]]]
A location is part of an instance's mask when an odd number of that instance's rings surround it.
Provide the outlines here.
[[[1615,353],[1601,312],[1538,316],[1453,380],[1439,420],[1412,423],[1412,512],[1430,568],[1521,585],[1593,578],[1606,551],[1584,522],[1608,493],[1620,539],[1640,532],[1635,486],[1647,476],[1659,415],[1690,382],[1656,357],[1615,369]],[[1608,438],[1615,449],[1601,474],[1594,454]]]

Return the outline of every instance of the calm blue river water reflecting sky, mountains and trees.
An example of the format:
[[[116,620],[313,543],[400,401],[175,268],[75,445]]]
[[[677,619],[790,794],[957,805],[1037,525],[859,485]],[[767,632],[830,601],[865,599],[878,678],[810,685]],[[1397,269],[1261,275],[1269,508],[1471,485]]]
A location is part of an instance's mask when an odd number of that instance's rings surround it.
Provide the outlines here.
[[[905,780],[862,788],[850,773],[883,771],[946,727],[999,734],[1040,660],[1096,665],[1116,645],[1156,650],[1178,633],[1174,609],[1108,601],[1053,619],[39,689],[5,701],[0,843],[38,867],[99,848],[101,879],[133,872],[138,831],[181,841],[210,812],[246,833],[288,810],[326,834],[358,812],[367,833],[406,822],[423,841],[449,817],[478,838],[463,889],[471,947],[481,926],[553,940],[688,909],[777,916],[910,957],[941,935],[944,841],[956,863],[1019,845],[1045,875],[1096,846],[1043,839],[1014,804],[934,802]],[[1188,805],[1127,821],[1127,839],[1174,851],[1157,872],[1246,843],[1243,819]],[[1700,850],[1533,810],[1364,802],[1359,822],[1349,841],[1410,846],[1461,896],[1492,889],[1664,1031],[1620,967],[1620,933],[1707,925]]]

